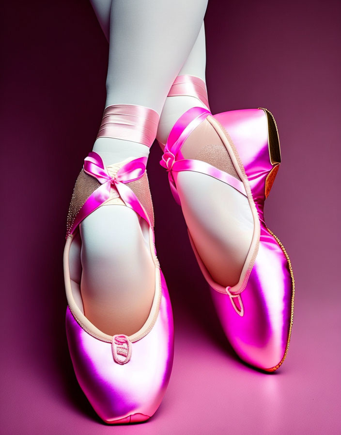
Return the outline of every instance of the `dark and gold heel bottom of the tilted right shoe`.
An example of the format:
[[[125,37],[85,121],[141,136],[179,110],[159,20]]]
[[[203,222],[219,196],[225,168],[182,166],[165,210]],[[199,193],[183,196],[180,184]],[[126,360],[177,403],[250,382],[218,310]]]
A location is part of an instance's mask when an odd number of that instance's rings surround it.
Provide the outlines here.
[[[272,164],[272,168],[270,169],[270,172],[268,173],[265,180],[265,198],[267,198],[274,184],[281,162],[280,142],[278,128],[274,116],[269,110],[263,107],[259,107],[259,109],[264,111],[267,119],[269,158]]]

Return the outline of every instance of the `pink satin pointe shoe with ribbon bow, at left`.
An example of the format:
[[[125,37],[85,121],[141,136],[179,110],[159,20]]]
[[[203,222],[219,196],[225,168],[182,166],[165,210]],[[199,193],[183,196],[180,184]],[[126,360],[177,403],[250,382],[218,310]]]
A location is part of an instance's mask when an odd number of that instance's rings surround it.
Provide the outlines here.
[[[68,215],[64,279],[69,351],[79,385],[99,417],[110,424],[150,418],[165,394],[173,361],[171,302],[155,253],[152,204],[143,193],[143,186],[148,183],[146,160],[128,159],[104,167],[101,157],[90,152],[79,174]],[[140,330],[130,336],[107,335],[91,323],[84,315],[80,285],[70,277],[70,249],[79,236],[80,223],[108,202],[130,207],[148,226],[155,264],[155,294],[149,316]]]

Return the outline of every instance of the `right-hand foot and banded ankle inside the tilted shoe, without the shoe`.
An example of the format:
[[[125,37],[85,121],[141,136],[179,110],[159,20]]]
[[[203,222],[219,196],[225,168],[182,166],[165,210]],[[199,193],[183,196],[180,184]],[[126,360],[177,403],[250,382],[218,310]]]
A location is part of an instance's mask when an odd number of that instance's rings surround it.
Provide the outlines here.
[[[208,109],[206,85],[198,77],[179,76],[159,122],[157,139],[162,148],[178,118],[192,107]],[[207,162],[240,181],[220,137],[206,120],[182,144],[181,155]],[[178,174],[177,191],[189,233],[212,278],[224,287],[237,284],[253,234],[248,199],[229,184],[194,171]]]

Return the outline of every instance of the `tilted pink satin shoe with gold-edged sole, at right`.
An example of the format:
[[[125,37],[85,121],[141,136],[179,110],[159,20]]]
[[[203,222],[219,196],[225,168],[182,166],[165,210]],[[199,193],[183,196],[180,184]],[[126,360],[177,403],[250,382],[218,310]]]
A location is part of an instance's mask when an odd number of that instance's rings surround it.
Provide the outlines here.
[[[191,92],[189,89],[186,95]],[[205,161],[184,158],[182,149],[186,140],[203,122],[213,127],[224,152],[228,153],[229,165],[224,165],[221,155],[207,158],[206,153]],[[220,169],[210,161],[218,162]],[[266,371],[279,368],[287,355],[294,308],[290,260],[278,237],[266,227],[263,215],[264,201],[279,163],[277,126],[266,109],[236,110],[213,116],[201,107],[188,110],[178,119],[160,162],[169,173],[171,191],[180,205],[177,183],[183,171],[207,174],[247,197],[253,217],[253,235],[237,284],[225,287],[214,281],[189,230],[188,234],[233,349],[242,360]]]

